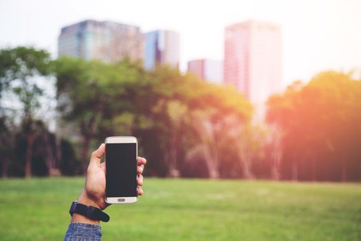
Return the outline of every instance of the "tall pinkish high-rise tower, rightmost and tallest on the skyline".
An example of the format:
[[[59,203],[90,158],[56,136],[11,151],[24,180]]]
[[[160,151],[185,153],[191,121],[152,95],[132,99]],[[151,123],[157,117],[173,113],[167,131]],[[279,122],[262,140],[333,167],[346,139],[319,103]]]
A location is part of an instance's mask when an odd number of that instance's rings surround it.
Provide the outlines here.
[[[281,27],[246,21],[226,28],[224,83],[234,85],[256,106],[281,91]]]

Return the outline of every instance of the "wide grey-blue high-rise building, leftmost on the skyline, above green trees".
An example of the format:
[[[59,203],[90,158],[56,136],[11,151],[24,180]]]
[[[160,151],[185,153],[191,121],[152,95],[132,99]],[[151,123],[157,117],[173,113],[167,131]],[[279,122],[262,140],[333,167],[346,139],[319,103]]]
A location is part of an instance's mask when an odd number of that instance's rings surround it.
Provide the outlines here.
[[[58,56],[105,62],[143,59],[144,36],[133,25],[86,20],[61,29]]]

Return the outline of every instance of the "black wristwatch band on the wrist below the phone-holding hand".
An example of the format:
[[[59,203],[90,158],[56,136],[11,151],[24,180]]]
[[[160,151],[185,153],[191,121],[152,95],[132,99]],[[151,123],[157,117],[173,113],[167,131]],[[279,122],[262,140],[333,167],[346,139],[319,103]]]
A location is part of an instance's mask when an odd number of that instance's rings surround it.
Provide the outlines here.
[[[109,221],[109,215],[103,212],[101,209],[87,205],[82,205],[81,203],[78,203],[76,201],[72,203],[69,213],[71,216],[73,216],[73,213],[79,213],[95,221],[103,221],[103,222]]]

